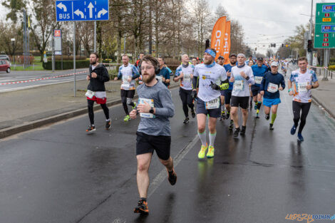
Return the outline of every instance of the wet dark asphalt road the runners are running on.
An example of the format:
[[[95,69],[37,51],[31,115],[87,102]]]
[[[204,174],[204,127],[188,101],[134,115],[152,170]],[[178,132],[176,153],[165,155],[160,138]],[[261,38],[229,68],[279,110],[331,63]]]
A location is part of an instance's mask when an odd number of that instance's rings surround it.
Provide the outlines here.
[[[84,133],[83,115],[2,140],[0,222],[293,222],[287,214],[335,214],[335,123],[316,105],[301,143],[289,134],[292,99],[286,90],[274,131],[264,115],[254,118],[254,110],[245,137],[233,138],[229,121],[217,121],[215,157],[199,161],[196,120],[182,124],[177,89],[172,96],[178,180],[169,185],[154,155],[149,216],[133,214],[139,120],[123,123],[118,105],[110,108],[109,132],[100,111],[92,135]]]

